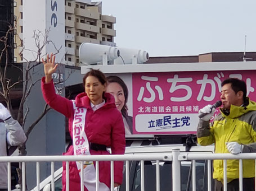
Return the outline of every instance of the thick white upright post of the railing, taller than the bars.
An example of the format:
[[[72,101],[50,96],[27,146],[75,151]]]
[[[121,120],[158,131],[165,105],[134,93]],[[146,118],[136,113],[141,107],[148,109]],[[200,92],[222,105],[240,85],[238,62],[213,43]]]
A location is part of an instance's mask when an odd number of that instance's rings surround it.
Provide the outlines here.
[[[181,191],[181,162],[179,159],[179,148],[173,148],[173,162],[172,162],[172,185],[173,190]]]

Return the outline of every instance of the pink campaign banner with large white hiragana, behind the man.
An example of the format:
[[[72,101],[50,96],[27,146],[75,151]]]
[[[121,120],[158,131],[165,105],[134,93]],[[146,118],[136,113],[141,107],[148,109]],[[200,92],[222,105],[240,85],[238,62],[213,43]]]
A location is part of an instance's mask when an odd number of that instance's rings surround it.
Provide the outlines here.
[[[196,133],[198,111],[220,100],[229,77],[244,80],[256,101],[255,71],[133,73],[133,134]]]

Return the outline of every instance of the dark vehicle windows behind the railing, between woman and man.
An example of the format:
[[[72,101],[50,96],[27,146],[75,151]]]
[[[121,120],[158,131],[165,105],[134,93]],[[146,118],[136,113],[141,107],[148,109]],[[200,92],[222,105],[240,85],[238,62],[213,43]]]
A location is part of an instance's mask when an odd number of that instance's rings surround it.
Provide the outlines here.
[[[196,190],[207,190],[207,161],[196,161]],[[181,190],[192,190],[192,165],[191,161],[181,162]],[[156,161],[144,162],[144,181],[145,190],[156,190]],[[141,162],[133,161],[130,171],[130,190],[141,190]],[[160,190],[172,190],[172,161],[160,161]],[[125,174],[124,174],[125,179]],[[132,180],[131,180],[132,179]],[[120,188],[120,191],[125,190],[125,180]]]

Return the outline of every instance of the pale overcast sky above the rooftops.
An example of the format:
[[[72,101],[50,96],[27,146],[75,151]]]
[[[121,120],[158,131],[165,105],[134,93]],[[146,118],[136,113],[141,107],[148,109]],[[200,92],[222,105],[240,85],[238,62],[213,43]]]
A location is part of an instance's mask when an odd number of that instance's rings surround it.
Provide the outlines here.
[[[255,0],[102,0],[117,46],[152,56],[256,52]]]

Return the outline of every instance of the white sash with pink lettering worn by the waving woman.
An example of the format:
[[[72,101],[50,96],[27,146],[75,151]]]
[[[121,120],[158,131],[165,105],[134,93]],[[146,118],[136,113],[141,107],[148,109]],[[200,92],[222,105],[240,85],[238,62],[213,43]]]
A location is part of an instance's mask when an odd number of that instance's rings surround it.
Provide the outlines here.
[[[74,107],[74,120],[73,120],[73,147],[74,155],[91,155],[89,152],[89,142],[86,137],[84,127],[86,124],[86,108],[77,108],[75,100],[73,101]],[[88,191],[96,190],[96,170],[93,161],[84,161],[84,186]],[[77,162],[77,169],[80,175],[81,162]],[[80,175],[81,176],[81,175]],[[109,191],[109,188],[104,183],[99,183],[100,191]]]

